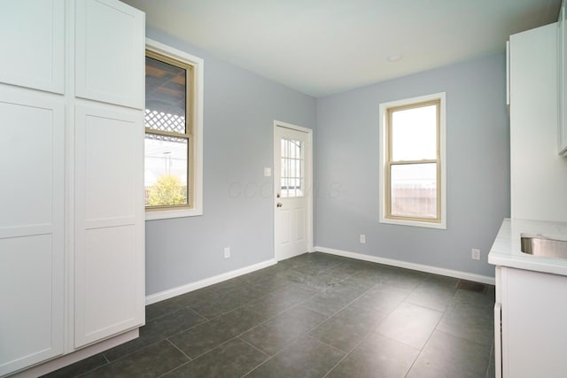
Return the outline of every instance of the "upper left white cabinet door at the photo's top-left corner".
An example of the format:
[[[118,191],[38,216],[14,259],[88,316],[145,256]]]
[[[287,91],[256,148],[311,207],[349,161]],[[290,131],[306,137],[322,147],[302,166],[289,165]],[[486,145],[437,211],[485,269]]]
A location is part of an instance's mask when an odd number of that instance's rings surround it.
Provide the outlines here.
[[[0,82],[63,93],[63,0],[3,0]]]

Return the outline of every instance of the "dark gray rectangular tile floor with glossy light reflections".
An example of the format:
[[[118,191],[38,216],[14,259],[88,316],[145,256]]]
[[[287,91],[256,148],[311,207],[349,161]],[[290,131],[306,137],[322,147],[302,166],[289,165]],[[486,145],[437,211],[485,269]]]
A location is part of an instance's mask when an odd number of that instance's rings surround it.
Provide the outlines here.
[[[146,307],[49,377],[492,377],[494,289],[323,253]]]

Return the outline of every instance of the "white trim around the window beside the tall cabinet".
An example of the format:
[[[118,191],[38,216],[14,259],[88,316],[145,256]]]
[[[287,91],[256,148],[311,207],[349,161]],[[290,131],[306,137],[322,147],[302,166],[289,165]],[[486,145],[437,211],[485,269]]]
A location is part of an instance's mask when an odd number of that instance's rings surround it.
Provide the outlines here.
[[[145,212],[145,220],[164,220],[203,215],[203,96],[205,89],[205,60],[177,50],[150,38],[145,39],[148,50],[158,52],[167,57],[181,60],[193,66],[195,73],[195,109],[193,114],[193,149],[195,159],[193,166],[193,208],[182,210],[164,210],[162,212]]]

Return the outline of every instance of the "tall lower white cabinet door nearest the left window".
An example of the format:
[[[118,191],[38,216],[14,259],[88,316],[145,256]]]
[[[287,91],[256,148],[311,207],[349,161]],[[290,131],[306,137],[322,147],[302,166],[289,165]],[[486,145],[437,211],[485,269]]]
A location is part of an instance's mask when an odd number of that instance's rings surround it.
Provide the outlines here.
[[[143,112],[77,106],[75,347],[144,323]]]

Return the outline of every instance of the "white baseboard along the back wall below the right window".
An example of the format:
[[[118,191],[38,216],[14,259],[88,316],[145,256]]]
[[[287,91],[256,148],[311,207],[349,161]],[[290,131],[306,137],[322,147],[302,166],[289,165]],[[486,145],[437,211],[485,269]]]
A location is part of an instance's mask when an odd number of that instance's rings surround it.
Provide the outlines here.
[[[482,282],[490,285],[493,285],[495,282],[494,277],[490,277],[488,275],[472,274],[472,273],[462,272],[459,270],[446,269],[438,266],[426,266],[422,264],[409,263],[407,261],[395,260],[392,258],[378,258],[377,256],[370,256],[362,253],[335,250],[332,248],[321,247],[321,246],[315,246],[314,251],[329,253],[330,255],[343,256],[346,258],[356,258],[359,260],[370,261],[373,263],[384,264],[389,266],[398,266],[406,269],[418,270],[420,272],[447,275],[449,277],[460,278],[462,280],[468,280],[474,282]]]

